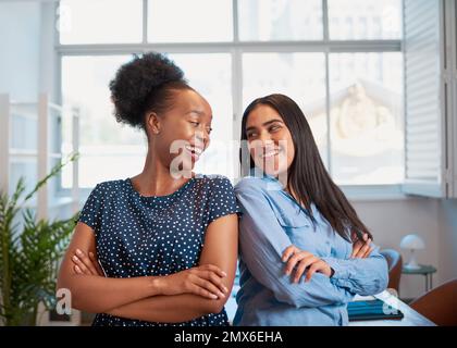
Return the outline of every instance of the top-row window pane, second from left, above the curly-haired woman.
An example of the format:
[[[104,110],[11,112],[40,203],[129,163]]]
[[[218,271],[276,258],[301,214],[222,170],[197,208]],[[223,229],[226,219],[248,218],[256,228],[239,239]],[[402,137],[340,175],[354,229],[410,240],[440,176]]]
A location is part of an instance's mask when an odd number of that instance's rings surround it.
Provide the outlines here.
[[[150,42],[230,41],[232,0],[150,0]]]

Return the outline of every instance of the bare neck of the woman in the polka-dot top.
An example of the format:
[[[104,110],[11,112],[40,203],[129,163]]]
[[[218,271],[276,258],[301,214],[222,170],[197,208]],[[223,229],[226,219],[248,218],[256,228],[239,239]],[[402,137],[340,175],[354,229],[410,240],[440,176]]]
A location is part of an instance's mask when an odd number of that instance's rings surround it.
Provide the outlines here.
[[[165,196],[187,183],[187,177],[174,178],[170,167],[163,165],[157,151],[148,148],[143,172],[132,178],[134,187],[143,196]]]

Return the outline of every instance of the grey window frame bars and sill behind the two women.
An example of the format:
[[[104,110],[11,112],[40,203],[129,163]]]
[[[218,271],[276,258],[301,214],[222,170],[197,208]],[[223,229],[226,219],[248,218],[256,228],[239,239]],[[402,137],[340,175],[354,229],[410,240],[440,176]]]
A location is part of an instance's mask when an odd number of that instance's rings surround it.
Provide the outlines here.
[[[59,2],[55,3],[55,10]],[[223,42],[148,42],[148,0],[143,0],[143,40],[140,44],[88,44],[88,45],[62,45],[59,40],[59,33],[55,29],[55,54],[57,90],[59,101],[62,102],[62,58],[69,55],[118,55],[157,51],[163,53],[228,53],[232,58],[232,104],[233,104],[233,135],[237,139],[240,133],[240,119],[243,115],[243,53],[245,52],[319,52],[324,53],[325,61],[325,110],[326,110],[326,142],[328,142],[328,171],[332,172],[332,147],[330,128],[330,77],[329,55],[331,53],[350,52],[402,52],[403,33],[399,39],[375,39],[375,40],[331,40],[329,37],[329,8],[328,0],[322,0],[322,40],[281,40],[281,41],[240,41],[238,33],[238,0],[232,0],[233,41]],[[402,1],[403,11],[403,1]],[[58,13],[58,12],[54,12]],[[403,18],[403,13],[400,13]],[[55,26],[54,26],[55,27]],[[403,27],[403,23],[402,23]],[[403,80],[405,85],[405,79]],[[404,86],[403,86],[404,89]],[[405,110],[403,110],[405,120]],[[404,164],[404,163],[403,163]],[[239,172],[239,164],[235,163]],[[339,185],[351,200],[368,199],[402,199],[406,195],[402,192],[403,183],[380,184],[380,185]],[[90,189],[81,188],[82,196],[87,196]],[[62,190],[65,190],[62,188]]]

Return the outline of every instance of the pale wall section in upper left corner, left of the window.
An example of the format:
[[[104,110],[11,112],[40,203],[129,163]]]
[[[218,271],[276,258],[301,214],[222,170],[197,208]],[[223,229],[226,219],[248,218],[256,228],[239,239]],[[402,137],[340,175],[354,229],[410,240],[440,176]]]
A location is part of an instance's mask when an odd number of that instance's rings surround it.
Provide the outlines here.
[[[0,1],[0,94],[35,102],[47,92],[59,102],[53,1]]]

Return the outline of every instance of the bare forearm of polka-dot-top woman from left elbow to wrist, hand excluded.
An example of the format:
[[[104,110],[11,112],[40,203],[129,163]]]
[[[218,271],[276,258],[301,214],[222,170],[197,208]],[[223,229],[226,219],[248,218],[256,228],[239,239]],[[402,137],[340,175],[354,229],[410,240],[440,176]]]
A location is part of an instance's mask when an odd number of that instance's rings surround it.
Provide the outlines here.
[[[94,275],[67,275],[58,288],[67,288],[72,307],[102,313],[113,308],[159,294],[156,277],[109,278]]]

